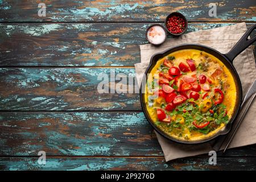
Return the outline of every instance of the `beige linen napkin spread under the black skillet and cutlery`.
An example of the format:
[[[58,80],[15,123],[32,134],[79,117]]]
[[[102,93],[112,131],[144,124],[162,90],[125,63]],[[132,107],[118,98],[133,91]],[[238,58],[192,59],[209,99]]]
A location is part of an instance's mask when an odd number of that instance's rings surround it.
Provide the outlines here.
[[[168,39],[160,47],[154,47],[151,44],[141,45],[141,63],[135,64],[138,84],[141,85],[143,73],[146,71],[150,58],[154,53],[162,52],[170,47],[184,43],[203,44],[217,49],[217,51],[220,51],[221,53],[226,53],[234,46],[234,44],[236,44],[246,30],[247,28],[245,23],[238,23],[232,26],[191,32],[182,35],[179,38]],[[234,60],[234,67],[240,76],[243,96],[245,96],[250,85],[256,79],[256,66],[251,46],[236,57]],[[254,101],[229,148],[256,143],[255,118],[256,102]],[[170,142],[158,133],[156,133],[156,137],[162,147],[166,161],[184,158],[186,156],[206,154],[212,150],[212,143],[197,144],[196,146],[184,145]]]

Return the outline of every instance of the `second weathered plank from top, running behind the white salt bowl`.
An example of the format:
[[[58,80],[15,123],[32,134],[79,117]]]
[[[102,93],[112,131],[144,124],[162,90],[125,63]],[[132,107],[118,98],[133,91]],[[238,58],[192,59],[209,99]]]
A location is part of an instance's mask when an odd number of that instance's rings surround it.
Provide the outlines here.
[[[189,23],[187,32],[231,24]],[[141,59],[139,45],[147,43],[148,26],[150,23],[0,24],[0,66],[134,66]]]

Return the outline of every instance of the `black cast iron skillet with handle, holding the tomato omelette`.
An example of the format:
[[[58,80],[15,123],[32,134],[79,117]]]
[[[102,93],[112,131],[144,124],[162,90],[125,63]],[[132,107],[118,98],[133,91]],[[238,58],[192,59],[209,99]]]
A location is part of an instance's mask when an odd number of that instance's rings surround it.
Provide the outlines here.
[[[247,47],[249,47],[251,44],[253,44],[256,40],[256,37],[252,39],[247,39],[248,36],[251,34],[251,32],[256,28],[256,24],[251,26],[249,30],[245,32],[245,34],[242,36],[242,38],[236,43],[236,45],[226,54],[222,54],[218,51],[216,51],[213,48],[207,47],[207,46],[202,46],[199,44],[183,44],[181,46],[176,46],[170,49],[167,49],[164,52],[156,53],[151,57],[150,64],[148,65],[148,68],[146,69],[146,72],[142,78],[142,84],[141,84],[141,89],[140,89],[140,95],[141,95],[141,105],[143,109],[143,113],[147,118],[147,121],[151,124],[151,126],[164,138],[167,138],[169,140],[172,140],[177,143],[181,144],[197,144],[197,143],[204,143],[208,142],[209,140],[212,140],[220,135],[225,135],[228,134],[230,129],[232,128],[232,123],[234,119],[237,117],[238,111],[240,110],[241,102],[242,102],[242,85],[240,78],[238,77],[237,71],[233,66],[233,60],[234,58],[239,55],[243,50],[245,50]],[[232,76],[234,77],[234,81],[236,84],[237,88],[237,101],[236,101],[236,106],[234,108],[234,113],[232,118],[230,119],[229,123],[224,127],[223,130],[218,131],[218,133],[212,135],[209,138],[201,139],[201,140],[195,140],[195,141],[186,141],[186,140],[179,140],[173,137],[170,137],[166,133],[164,133],[162,130],[160,130],[158,127],[155,126],[154,122],[150,118],[150,115],[148,114],[148,111],[146,109],[146,103],[144,101],[144,93],[142,92],[142,89],[144,90],[145,85],[146,85],[146,80],[147,80],[147,73],[151,72],[151,69],[154,68],[156,62],[164,57],[167,56],[168,54],[179,51],[181,49],[197,49],[200,51],[205,51],[207,53],[210,53],[211,55],[217,57],[219,60],[222,61],[223,64],[229,69],[230,73],[232,73]],[[241,60],[242,62],[242,60]]]

